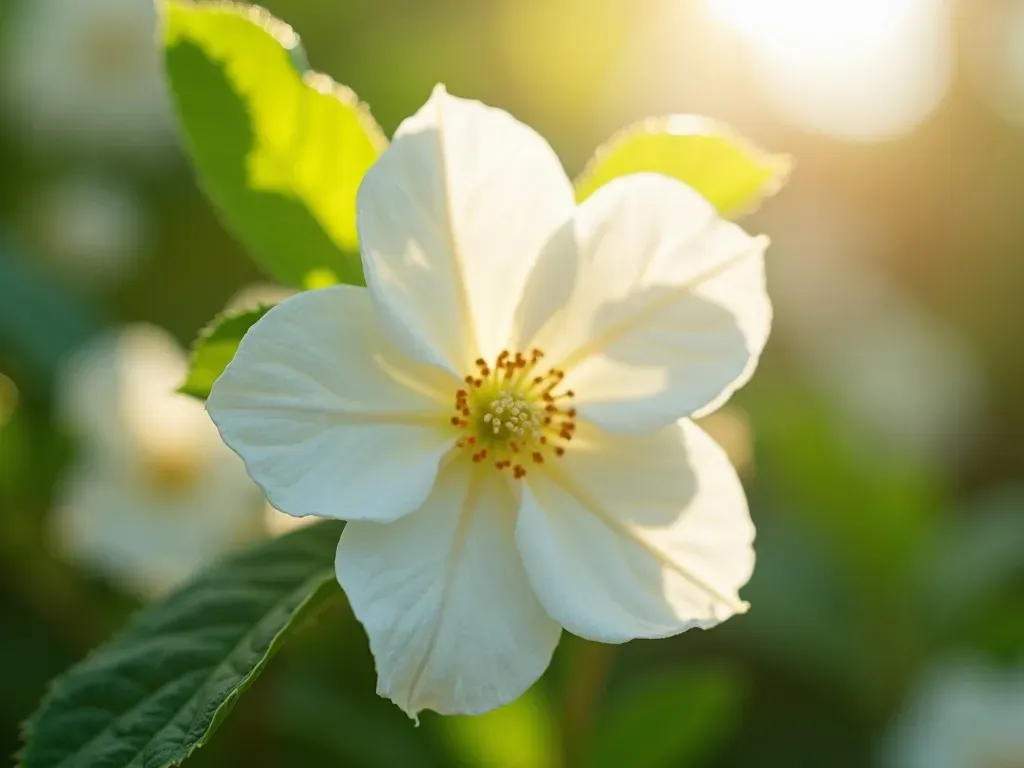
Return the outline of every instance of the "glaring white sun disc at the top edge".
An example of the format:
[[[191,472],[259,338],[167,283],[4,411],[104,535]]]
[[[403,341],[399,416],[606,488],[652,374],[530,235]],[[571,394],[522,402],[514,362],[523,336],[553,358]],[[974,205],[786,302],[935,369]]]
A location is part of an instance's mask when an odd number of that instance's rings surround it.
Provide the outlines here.
[[[891,138],[923,121],[948,87],[948,0],[707,2],[749,41],[766,94],[809,130]]]

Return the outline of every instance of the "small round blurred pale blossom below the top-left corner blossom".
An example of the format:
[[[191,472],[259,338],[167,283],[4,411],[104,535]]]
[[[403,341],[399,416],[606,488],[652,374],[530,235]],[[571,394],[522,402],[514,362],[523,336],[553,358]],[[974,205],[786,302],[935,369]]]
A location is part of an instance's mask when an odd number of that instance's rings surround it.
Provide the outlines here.
[[[30,205],[37,251],[62,274],[96,288],[137,268],[147,221],[124,184],[94,174],[66,176],[40,189]]]

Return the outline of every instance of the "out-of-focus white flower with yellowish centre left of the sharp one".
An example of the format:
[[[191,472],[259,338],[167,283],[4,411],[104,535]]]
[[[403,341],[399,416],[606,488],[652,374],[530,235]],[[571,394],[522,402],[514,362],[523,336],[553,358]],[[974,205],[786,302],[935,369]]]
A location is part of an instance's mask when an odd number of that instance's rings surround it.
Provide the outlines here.
[[[263,502],[203,407],[175,394],[184,354],[162,331],[126,329],[76,354],[62,382],[79,452],[61,484],[67,555],[143,596],[261,532]]]

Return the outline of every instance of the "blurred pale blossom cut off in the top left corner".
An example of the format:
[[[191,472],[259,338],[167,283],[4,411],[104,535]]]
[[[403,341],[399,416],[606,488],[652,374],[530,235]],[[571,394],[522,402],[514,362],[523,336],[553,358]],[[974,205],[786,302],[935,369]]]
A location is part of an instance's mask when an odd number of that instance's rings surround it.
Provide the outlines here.
[[[176,144],[153,0],[20,0],[0,44],[27,138],[153,158]]]

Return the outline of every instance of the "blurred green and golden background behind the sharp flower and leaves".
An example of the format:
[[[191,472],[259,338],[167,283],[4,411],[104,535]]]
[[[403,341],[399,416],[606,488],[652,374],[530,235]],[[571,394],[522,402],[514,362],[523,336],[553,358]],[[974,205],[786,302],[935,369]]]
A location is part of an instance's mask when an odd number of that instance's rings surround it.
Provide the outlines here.
[[[565,637],[519,701],[420,728],[376,697],[366,638],[333,611],[189,764],[1024,764],[1024,0],[265,6],[389,135],[444,82],[535,126],[573,175],[617,129],[677,113],[795,158],[745,220],[773,239],[774,335],[706,424],[746,483],[758,566],[745,616],[614,649]],[[61,527],[99,482],[76,474],[97,449],[66,413],[87,387],[69,355],[136,323],[184,345],[271,291],[251,290],[267,279],[178,148],[153,24],[147,0],[0,3],[5,755],[46,682],[148,599],[123,551]],[[72,410],[129,430],[119,386]],[[173,480],[185,444],[139,471]],[[185,516],[172,498],[122,514]],[[118,525],[90,514],[98,539]],[[251,515],[232,543],[281,522]]]

